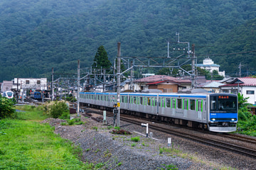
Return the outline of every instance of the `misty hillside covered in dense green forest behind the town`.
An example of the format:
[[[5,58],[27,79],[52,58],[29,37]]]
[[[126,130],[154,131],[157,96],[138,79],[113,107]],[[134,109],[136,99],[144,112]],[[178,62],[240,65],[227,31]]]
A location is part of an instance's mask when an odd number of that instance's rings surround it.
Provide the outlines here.
[[[166,56],[176,32],[198,62],[209,55],[229,74],[239,62],[254,72],[255,52],[218,54],[255,50],[255,18],[254,0],[2,0],[0,81],[76,72],[77,60],[90,67],[100,45],[113,63],[117,42],[123,56]]]

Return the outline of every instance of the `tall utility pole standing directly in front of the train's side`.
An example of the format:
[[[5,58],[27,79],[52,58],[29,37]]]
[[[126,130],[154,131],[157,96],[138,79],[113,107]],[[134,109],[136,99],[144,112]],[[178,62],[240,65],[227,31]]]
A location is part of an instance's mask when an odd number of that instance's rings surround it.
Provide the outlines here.
[[[120,106],[120,57],[121,57],[121,42],[117,42],[117,106]],[[117,127],[120,126],[120,107],[117,107]]]

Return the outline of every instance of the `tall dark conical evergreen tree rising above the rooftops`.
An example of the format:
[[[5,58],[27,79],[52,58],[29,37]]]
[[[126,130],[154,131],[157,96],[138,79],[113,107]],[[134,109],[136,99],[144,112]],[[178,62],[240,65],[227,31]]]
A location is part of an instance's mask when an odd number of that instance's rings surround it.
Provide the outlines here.
[[[92,64],[92,68],[102,67],[103,69],[110,69],[110,67],[112,65],[110,60],[108,60],[107,52],[106,52],[105,48],[103,47],[103,45],[98,47],[96,55],[95,55],[95,59],[93,61],[94,62]]]

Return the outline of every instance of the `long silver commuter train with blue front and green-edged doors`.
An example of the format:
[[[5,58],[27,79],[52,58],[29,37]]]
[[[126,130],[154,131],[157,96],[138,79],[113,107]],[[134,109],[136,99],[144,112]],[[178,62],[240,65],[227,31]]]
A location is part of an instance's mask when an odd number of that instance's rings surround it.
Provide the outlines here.
[[[80,92],[79,101],[81,105],[112,110],[117,94]],[[238,123],[238,96],[121,93],[120,113],[213,132],[233,132]]]

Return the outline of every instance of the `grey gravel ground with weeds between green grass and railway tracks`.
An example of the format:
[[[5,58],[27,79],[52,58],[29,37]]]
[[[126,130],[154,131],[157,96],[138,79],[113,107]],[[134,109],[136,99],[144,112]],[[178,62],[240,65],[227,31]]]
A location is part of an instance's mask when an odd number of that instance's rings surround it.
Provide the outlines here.
[[[157,139],[154,140],[140,134],[145,134],[145,128],[122,121],[121,128],[132,135],[115,135],[111,133],[114,129],[109,130],[107,125],[91,118],[81,119],[84,125],[62,126],[63,120],[53,118],[43,123],[55,126],[56,134],[80,145],[82,161],[98,164],[99,169],[167,169],[166,166],[192,170],[256,169],[255,159],[218,148],[152,131]],[[107,123],[112,124],[112,118],[107,118]],[[139,142],[133,142],[132,137],[139,137]],[[171,147],[167,144],[168,137],[172,140]]]

